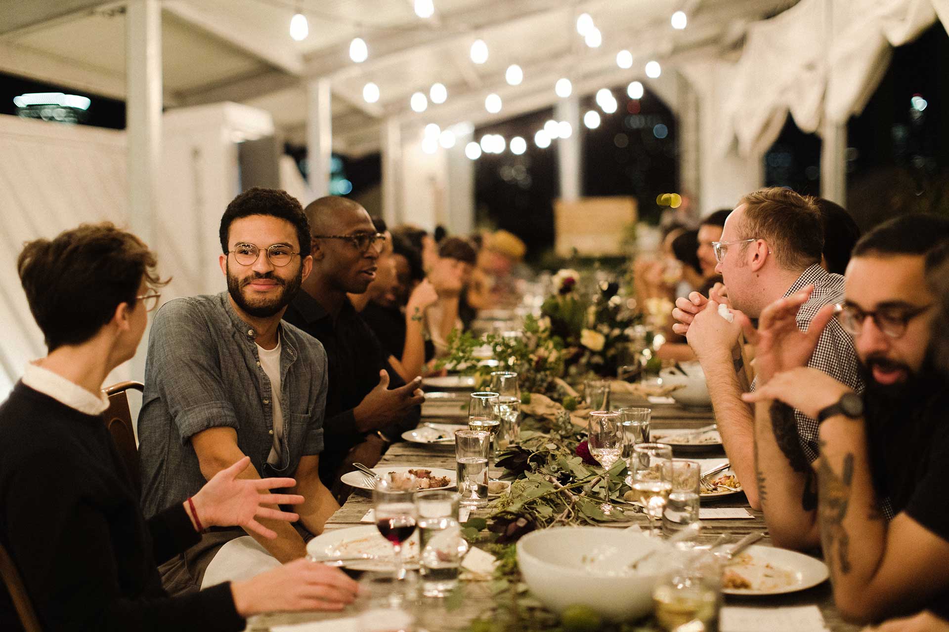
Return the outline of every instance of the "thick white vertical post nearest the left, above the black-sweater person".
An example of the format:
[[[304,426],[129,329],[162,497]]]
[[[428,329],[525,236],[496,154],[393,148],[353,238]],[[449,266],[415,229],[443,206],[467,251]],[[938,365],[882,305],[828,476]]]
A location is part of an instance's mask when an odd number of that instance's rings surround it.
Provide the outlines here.
[[[161,168],[158,0],[129,0],[125,11],[125,60],[129,226],[146,244],[151,244]]]

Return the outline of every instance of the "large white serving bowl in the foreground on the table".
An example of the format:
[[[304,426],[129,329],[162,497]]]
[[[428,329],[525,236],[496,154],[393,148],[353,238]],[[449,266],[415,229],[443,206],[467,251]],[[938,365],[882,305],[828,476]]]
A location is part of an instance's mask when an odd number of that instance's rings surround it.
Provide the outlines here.
[[[626,621],[652,609],[662,555],[635,571],[630,565],[666,546],[621,529],[552,527],[517,541],[517,563],[530,592],[554,612],[582,604],[606,619]]]

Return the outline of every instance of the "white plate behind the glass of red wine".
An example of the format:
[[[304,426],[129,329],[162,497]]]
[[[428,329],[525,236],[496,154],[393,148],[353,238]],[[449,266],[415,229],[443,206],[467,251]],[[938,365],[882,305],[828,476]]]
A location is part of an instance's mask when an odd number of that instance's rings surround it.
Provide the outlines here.
[[[392,570],[392,544],[382,537],[376,525],[360,525],[336,529],[317,535],[307,542],[307,553],[316,559],[373,555],[377,559],[344,562],[347,569]],[[419,530],[402,543],[402,560],[406,569],[419,568]]]

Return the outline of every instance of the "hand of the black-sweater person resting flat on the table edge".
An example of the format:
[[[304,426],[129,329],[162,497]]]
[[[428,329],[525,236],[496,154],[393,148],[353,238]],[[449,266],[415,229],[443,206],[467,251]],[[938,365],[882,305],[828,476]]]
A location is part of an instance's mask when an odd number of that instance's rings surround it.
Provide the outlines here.
[[[261,612],[342,610],[352,604],[359,585],[342,570],[298,559],[231,585],[234,607],[242,617]]]

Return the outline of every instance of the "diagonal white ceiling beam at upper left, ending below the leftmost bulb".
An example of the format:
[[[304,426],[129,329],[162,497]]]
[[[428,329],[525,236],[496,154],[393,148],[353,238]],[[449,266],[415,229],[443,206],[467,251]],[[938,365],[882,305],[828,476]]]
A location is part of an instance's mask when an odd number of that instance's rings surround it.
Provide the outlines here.
[[[265,40],[252,24],[234,20],[229,13],[207,11],[201,9],[198,4],[183,0],[163,0],[162,8],[188,24],[290,75],[299,76],[304,72],[303,56],[293,49],[289,37],[286,43]]]

